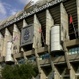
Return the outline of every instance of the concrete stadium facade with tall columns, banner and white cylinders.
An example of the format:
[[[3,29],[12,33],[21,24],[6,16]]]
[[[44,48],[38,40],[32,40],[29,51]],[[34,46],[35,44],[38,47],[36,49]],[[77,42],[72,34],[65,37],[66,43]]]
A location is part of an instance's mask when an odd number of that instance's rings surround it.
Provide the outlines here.
[[[0,21],[0,65],[30,60],[36,79],[79,79],[79,0],[41,0]]]

